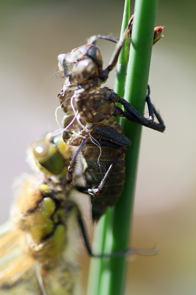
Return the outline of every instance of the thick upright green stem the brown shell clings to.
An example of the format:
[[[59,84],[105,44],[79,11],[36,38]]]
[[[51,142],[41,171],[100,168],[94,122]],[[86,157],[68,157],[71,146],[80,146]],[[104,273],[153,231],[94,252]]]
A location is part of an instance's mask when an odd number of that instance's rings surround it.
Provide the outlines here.
[[[141,114],[150,70],[155,16],[158,0],[136,0],[135,19],[128,63],[125,99]],[[100,219],[95,230],[95,251],[114,252],[128,248],[130,220],[140,147],[141,125],[122,120],[122,132],[131,139],[126,151],[126,179],[123,194]],[[125,286],[125,257],[91,259],[88,295],[122,295]]]

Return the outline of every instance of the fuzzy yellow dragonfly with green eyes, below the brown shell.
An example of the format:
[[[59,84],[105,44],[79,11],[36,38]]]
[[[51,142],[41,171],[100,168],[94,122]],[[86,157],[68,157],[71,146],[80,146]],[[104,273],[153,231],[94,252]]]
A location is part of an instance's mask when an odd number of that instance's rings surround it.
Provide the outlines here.
[[[72,147],[51,133],[31,144],[29,162],[36,174],[18,179],[11,219],[0,228],[1,295],[81,294],[74,261],[78,227],[90,256],[156,253],[131,249],[93,254],[76,200],[78,191],[66,179],[72,155]]]

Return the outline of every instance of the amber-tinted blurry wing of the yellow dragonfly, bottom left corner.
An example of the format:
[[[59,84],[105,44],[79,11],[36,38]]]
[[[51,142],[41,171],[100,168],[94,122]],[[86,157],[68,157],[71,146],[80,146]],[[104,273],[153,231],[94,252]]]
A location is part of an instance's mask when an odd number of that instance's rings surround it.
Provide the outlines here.
[[[22,248],[24,232],[11,227],[9,222],[0,227],[0,294],[43,295],[35,275],[35,261]]]

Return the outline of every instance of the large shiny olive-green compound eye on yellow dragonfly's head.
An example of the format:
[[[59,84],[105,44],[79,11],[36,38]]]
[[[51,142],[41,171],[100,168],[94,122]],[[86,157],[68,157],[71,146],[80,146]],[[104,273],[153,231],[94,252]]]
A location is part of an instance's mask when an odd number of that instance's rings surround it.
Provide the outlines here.
[[[64,159],[58,148],[51,142],[40,140],[32,145],[33,155],[39,164],[46,168],[50,173],[58,175],[64,168]]]

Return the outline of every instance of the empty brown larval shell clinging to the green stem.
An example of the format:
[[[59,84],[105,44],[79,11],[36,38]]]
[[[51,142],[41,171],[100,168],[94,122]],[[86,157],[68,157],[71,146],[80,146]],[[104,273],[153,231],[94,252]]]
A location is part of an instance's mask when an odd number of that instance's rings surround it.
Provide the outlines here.
[[[120,124],[115,117],[126,117],[130,121],[160,132],[165,130],[163,119],[150,101],[149,86],[146,96],[149,118],[141,115],[110,88],[100,88],[115,67],[126,36],[128,33],[131,34],[132,24],[133,16],[119,41],[111,36],[96,35],[89,38],[87,45],[58,56],[58,69],[64,78],[62,93],[58,95],[61,108],[66,114],[63,139],[69,145],[79,146],[78,152],[86,146],[83,155],[86,161],[84,175],[87,185],[92,186],[95,179],[102,178],[103,168],[109,167],[110,163],[119,157],[110,170],[107,186],[102,190],[94,189],[91,195],[93,220],[98,220],[108,206],[116,203],[125,181],[124,151],[125,146],[131,142],[121,133]],[[154,43],[163,37],[162,31],[163,27],[154,29]],[[105,69],[100,50],[95,45],[97,38],[117,43],[110,63]],[[126,112],[116,103],[122,104]],[[154,116],[157,117],[158,123],[154,122]],[[68,172],[71,175],[72,165],[68,167]],[[71,178],[68,175],[69,177]],[[91,191],[88,190],[89,193]]]

